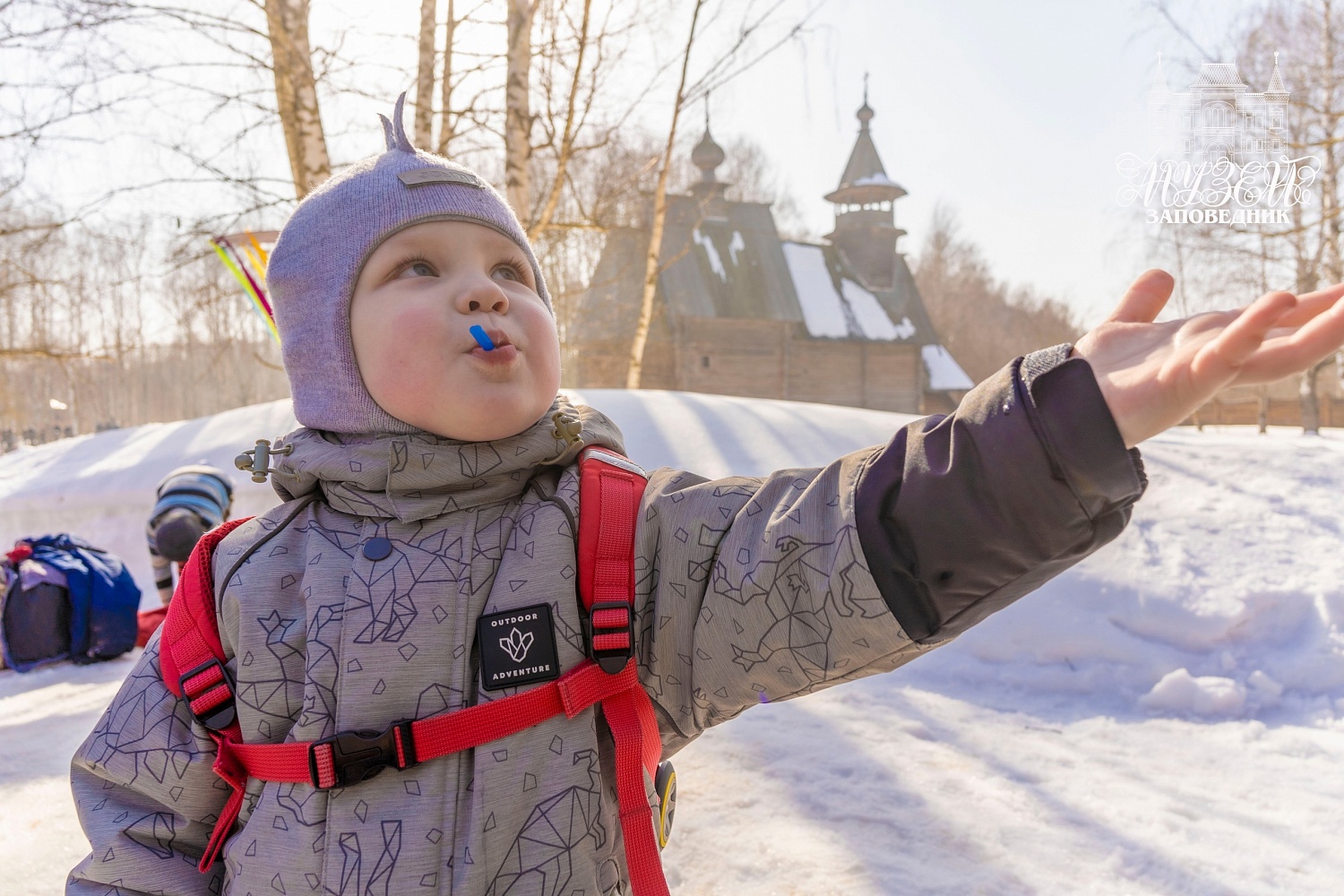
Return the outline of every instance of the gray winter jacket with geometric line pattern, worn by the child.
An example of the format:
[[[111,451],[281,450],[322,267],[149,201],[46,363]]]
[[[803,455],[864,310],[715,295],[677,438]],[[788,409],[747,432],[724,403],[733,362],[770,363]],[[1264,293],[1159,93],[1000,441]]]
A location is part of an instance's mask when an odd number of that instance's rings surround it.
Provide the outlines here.
[[[821,469],[655,470],[636,536],[637,656],[664,755],[762,697],[894,669],[1116,537],[1141,466],[1066,355],[1028,356],[954,415]],[[620,450],[605,416],[558,407],[582,416],[585,445]],[[581,661],[581,446],[551,430],[286,439],[286,502],[214,564],[249,743],[382,731],[524,689],[482,686],[482,614],[548,604],[560,669]],[[612,742],[591,709],[345,789],[253,780],[223,861],[202,875],[228,794],[212,758],[159,677],[155,638],[74,758],[93,852],[66,892],[622,891]]]

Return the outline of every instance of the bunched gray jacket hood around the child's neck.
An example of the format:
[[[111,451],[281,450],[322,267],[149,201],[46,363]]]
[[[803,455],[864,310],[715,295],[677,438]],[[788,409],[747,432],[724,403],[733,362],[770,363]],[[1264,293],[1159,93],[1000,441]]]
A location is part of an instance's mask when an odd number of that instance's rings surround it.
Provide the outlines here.
[[[571,431],[573,422],[582,424],[573,439],[556,437],[556,415]],[[300,429],[277,443],[293,451],[276,457],[271,482],[286,501],[320,492],[343,513],[414,523],[513,498],[540,467],[569,466],[590,445],[625,450],[605,414],[556,395],[536,423],[493,442]]]

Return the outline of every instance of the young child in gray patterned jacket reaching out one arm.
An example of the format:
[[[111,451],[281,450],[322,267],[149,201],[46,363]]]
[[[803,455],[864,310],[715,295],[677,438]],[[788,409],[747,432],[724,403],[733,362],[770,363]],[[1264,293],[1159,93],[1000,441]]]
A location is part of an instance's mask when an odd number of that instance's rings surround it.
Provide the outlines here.
[[[562,670],[583,658],[574,462],[621,434],[556,396],[550,297],[508,206],[414,149],[401,111],[387,152],[313,191],[270,259],[304,429],[277,458],[285,502],[212,566],[247,743],[540,686],[482,681],[481,617],[546,604],[536,638]],[[1126,447],[1327,356],[1341,292],[1154,325],[1171,278],[1150,273],[1077,348],[1019,359],[886,446],[762,478],[652,472],[636,660],[664,756],[762,700],[894,669],[1114,539],[1145,486]],[[230,790],[159,646],[74,759],[93,850],[67,893],[629,892],[594,709],[348,787],[249,780],[223,861],[198,872]]]

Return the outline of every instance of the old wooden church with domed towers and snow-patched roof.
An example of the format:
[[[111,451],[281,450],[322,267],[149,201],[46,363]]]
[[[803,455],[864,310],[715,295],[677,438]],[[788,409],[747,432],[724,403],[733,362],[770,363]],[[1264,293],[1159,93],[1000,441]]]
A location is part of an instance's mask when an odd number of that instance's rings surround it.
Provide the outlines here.
[[[706,128],[691,154],[699,183],[668,197],[645,388],[911,414],[950,411],[972,388],[896,247],[906,191],[882,167],[872,117],[866,97],[823,243],[781,239],[769,204],[726,199]],[[569,333],[577,387],[625,386],[648,240],[646,223],[607,235]]]

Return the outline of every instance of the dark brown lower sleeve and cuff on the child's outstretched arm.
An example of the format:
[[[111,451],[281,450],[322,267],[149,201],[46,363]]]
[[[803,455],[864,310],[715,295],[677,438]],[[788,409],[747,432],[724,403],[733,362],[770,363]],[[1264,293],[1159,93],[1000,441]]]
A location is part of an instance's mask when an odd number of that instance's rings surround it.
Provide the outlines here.
[[[911,639],[956,637],[1129,521],[1142,462],[1070,348],[1017,359],[953,415],[903,427],[862,473],[859,540]]]

